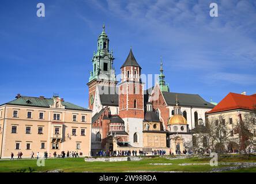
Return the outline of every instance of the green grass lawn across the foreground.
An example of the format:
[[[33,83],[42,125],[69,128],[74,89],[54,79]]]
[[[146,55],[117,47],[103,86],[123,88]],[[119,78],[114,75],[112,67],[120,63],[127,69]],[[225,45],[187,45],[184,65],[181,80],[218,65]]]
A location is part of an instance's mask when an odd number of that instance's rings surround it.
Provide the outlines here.
[[[185,171],[185,172],[208,172],[212,171],[211,166],[189,165],[179,166],[181,163],[209,163],[210,158],[199,159],[197,157],[189,159],[169,160],[166,158],[144,158],[141,161],[127,162],[85,162],[84,158],[69,159],[47,159],[44,167],[38,167],[35,160],[1,160],[0,172],[41,172],[51,170],[62,170],[63,172],[127,172],[127,171]],[[221,162],[256,162],[256,156],[246,158],[244,156],[220,157]],[[172,163],[172,165],[150,165],[149,163]],[[228,167],[219,165],[217,167]],[[29,168],[31,170],[29,170]],[[256,167],[232,170],[232,172],[256,172]]]

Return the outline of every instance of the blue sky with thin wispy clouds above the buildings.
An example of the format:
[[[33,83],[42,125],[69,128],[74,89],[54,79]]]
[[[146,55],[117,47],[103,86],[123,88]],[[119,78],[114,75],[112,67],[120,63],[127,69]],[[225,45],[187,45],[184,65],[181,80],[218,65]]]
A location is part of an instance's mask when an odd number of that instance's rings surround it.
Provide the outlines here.
[[[36,5],[46,5],[46,17]],[[209,4],[219,17],[209,16]],[[256,1],[49,0],[0,2],[0,104],[21,95],[87,107],[86,83],[103,22],[116,73],[130,46],[144,74],[178,93],[219,102],[230,91],[256,93]]]

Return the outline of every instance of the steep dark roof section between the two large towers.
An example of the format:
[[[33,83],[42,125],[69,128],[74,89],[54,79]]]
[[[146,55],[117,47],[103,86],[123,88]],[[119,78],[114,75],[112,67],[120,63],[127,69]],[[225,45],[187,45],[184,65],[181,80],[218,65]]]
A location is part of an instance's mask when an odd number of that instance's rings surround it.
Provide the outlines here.
[[[107,105],[107,106],[119,105],[118,87],[103,88],[103,86],[99,86],[99,90],[101,89],[102,89],[102,93],[100,91],[100,102],[102,105]]]

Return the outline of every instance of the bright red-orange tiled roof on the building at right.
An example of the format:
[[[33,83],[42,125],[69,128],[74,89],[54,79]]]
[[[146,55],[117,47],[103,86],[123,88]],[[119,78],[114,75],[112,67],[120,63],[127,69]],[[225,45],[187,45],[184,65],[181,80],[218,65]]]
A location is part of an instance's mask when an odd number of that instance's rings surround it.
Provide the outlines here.
[[[220,101],[218,105],[207,113],[210,114],[235,109],[253,110],[254,105],[256,105],[256,94],[242,95],[237,93],[229,93]]]

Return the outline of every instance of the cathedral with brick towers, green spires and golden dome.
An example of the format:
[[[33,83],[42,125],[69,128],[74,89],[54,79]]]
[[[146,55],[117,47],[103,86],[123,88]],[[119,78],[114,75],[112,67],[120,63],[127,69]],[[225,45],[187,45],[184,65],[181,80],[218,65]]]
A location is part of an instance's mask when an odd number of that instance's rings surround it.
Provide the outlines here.
[[[174,154],[189,150],[192,130],[205,125],[205,114],[214,105],[198,94],[171,92],[162,60],[158,82],[144,90],[142,67],[132,49],[120,68],[118,81],[109,44],[103,26],[87,83],[93,116],[91,155],[101,150],[165,150]]]

